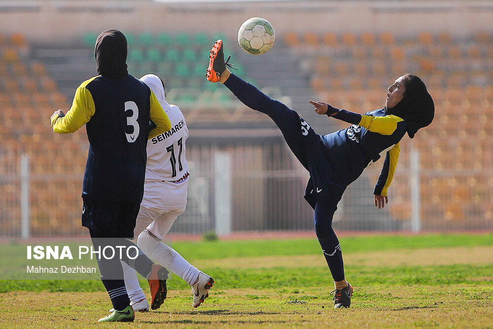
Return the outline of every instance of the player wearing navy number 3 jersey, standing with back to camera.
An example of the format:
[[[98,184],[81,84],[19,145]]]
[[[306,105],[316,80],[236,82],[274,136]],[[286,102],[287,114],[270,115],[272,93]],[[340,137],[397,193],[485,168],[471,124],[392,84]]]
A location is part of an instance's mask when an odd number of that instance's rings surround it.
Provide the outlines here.
[[[89,229],[96,250],[125,246],[133,251],[129,257],[123,252],[122,260],[148,279],[152,308],[158,308],[166,298],[168,271],[140,250],[136,252],[137,246],[126,238],[134,237],[142,200],[147,139],[169,131],[170,120],[149,87],[128,74],[127,39],[120,31],[99,35],[95,57],[99,75],[82,82],[70,110],[55,111],[51,125],[62,134],[86,125],[89,154],[82,186],[82,225]],[[156,126],[152,130],[150,120]],[[98,266],[114,308],[98,322],[134,321],[120,258],[100,257]]]

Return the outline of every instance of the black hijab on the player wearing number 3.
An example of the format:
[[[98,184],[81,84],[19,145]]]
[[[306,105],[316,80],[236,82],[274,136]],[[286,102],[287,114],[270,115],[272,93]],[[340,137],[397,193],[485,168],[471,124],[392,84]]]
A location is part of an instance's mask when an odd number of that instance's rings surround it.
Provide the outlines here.
[[[118,30],[106,30],[96,39],[98,74],[124,77],[127,71],[127,38]]]

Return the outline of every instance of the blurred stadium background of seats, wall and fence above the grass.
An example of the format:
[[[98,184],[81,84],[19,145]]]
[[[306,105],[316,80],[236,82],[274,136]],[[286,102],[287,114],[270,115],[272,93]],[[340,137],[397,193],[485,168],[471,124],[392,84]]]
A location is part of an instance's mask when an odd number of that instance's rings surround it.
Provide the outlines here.
[[[255,16],[276,30],[261,56],[237,41]],[[97,75],[96,37],[113,28],[128,39],[129,73],[160,75],[190,129],[188,204],[173,233],[313,230],[308,173],[279,130],[205,78],[217,38],[235,73],[318,134],[346,124],[308,99],[364,113],[403,73],[423,78],[435,119],[401,141],[388,205],[373,205],[380,160],[347,189],[336,231],[492,231],[492,18],[491,0],[0,1],[0,237],[87,235],[85,129],[55,134],[49,117]]]

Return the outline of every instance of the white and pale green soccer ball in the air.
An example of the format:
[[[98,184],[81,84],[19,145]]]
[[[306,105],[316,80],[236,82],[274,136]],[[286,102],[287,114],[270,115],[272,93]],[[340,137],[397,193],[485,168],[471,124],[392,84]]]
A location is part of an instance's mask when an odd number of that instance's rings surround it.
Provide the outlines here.
[[[238,31],[238,43],[248,54],[261,55],[269,51],[274,44],[274,28],[264,18],[247,19]]]

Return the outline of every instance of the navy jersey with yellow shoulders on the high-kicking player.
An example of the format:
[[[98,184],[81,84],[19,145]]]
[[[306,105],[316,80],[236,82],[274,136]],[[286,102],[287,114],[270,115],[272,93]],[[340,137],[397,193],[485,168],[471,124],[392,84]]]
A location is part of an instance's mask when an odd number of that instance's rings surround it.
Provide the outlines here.
[[[334,183],[346,188],[385,154],[374,194],[387,195],[399,158],[399,141],[406,133],[404,120],[388,115],[384,109],[365,114],[339,110],[334,117],[352,123],[346,129],[321,136]]]

